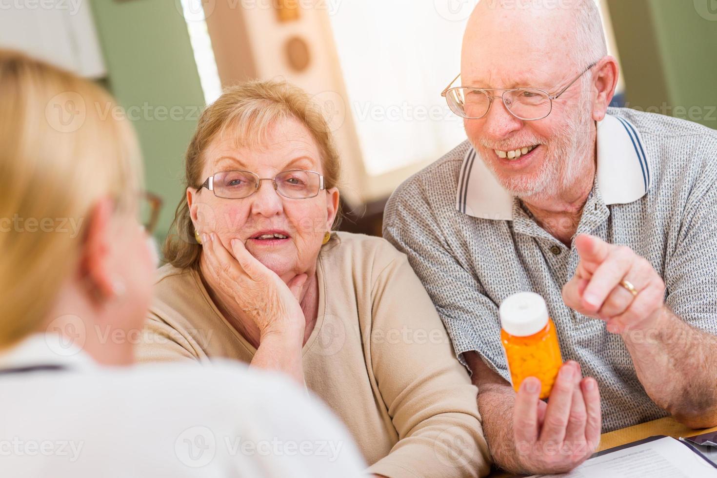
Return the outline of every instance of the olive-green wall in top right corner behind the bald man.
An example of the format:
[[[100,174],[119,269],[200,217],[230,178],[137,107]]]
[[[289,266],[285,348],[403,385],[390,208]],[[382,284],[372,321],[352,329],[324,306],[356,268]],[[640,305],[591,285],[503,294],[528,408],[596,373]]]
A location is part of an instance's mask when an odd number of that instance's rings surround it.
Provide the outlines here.
[[[711,0],[608,0],[630,107],[717,129]]]

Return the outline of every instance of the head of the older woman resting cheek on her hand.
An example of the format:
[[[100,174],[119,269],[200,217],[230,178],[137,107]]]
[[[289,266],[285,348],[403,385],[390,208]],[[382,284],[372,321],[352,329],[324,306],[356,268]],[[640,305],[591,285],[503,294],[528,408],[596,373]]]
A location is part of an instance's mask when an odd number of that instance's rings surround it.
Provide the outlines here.
[[[306,92],[277,81],[247,82],[225,90],[202,113],[187,149],[186,196],[177,208],[166,259],[180,268],[199,267],[201,246],[195,236],[213,232],[228,249],[232,239],[242,240],[252,255],[284,279],[307,272],[338,221],[339,169],[331,130]],[[214,175],[227,171],[272,179],[291,170],[320,173],[324,188],[310,198],[295,199],[282,195],[278,181],[279,190],[271,181],[261,181],[250,196],[237,199],[217,194],[217,187],[201,187],[210,176],[217,178],[217,186],[221,178]],[[260,233],[272,231],[288,238],[256,240]]]

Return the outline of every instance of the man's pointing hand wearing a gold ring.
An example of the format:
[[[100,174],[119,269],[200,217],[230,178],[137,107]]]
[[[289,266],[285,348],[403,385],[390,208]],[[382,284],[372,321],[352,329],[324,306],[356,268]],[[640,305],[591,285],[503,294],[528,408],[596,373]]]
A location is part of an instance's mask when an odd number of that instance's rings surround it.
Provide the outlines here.
[[[607,322],[610,333],[650,326],[660,318],[665,282],[652,264],[629,247],[608,244],[581,234],[575,240],[580,255],[575,275],[563,287],[568,307]],[[622,285],[634,286],[637,295]]]

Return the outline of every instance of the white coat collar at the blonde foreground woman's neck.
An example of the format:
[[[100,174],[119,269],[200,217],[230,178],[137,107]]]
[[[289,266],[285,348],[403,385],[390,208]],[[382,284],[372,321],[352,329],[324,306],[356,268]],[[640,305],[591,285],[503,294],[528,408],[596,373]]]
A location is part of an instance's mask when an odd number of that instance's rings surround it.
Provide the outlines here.
[[[55,333],[36,333],[0,354],[0,369],[37,365],[94,368],[94,360],[70,339]]]

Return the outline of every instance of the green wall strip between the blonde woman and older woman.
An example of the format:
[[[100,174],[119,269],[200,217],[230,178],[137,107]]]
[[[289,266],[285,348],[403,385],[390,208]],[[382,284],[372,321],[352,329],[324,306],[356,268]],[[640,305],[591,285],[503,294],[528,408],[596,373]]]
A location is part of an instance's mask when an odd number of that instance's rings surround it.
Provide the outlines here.
[[[183,155],[204,95],[179,0],[92,0],[108,69],[106,84],[132,120],[146,188],[164,201],[163,239],[184,193]]]

